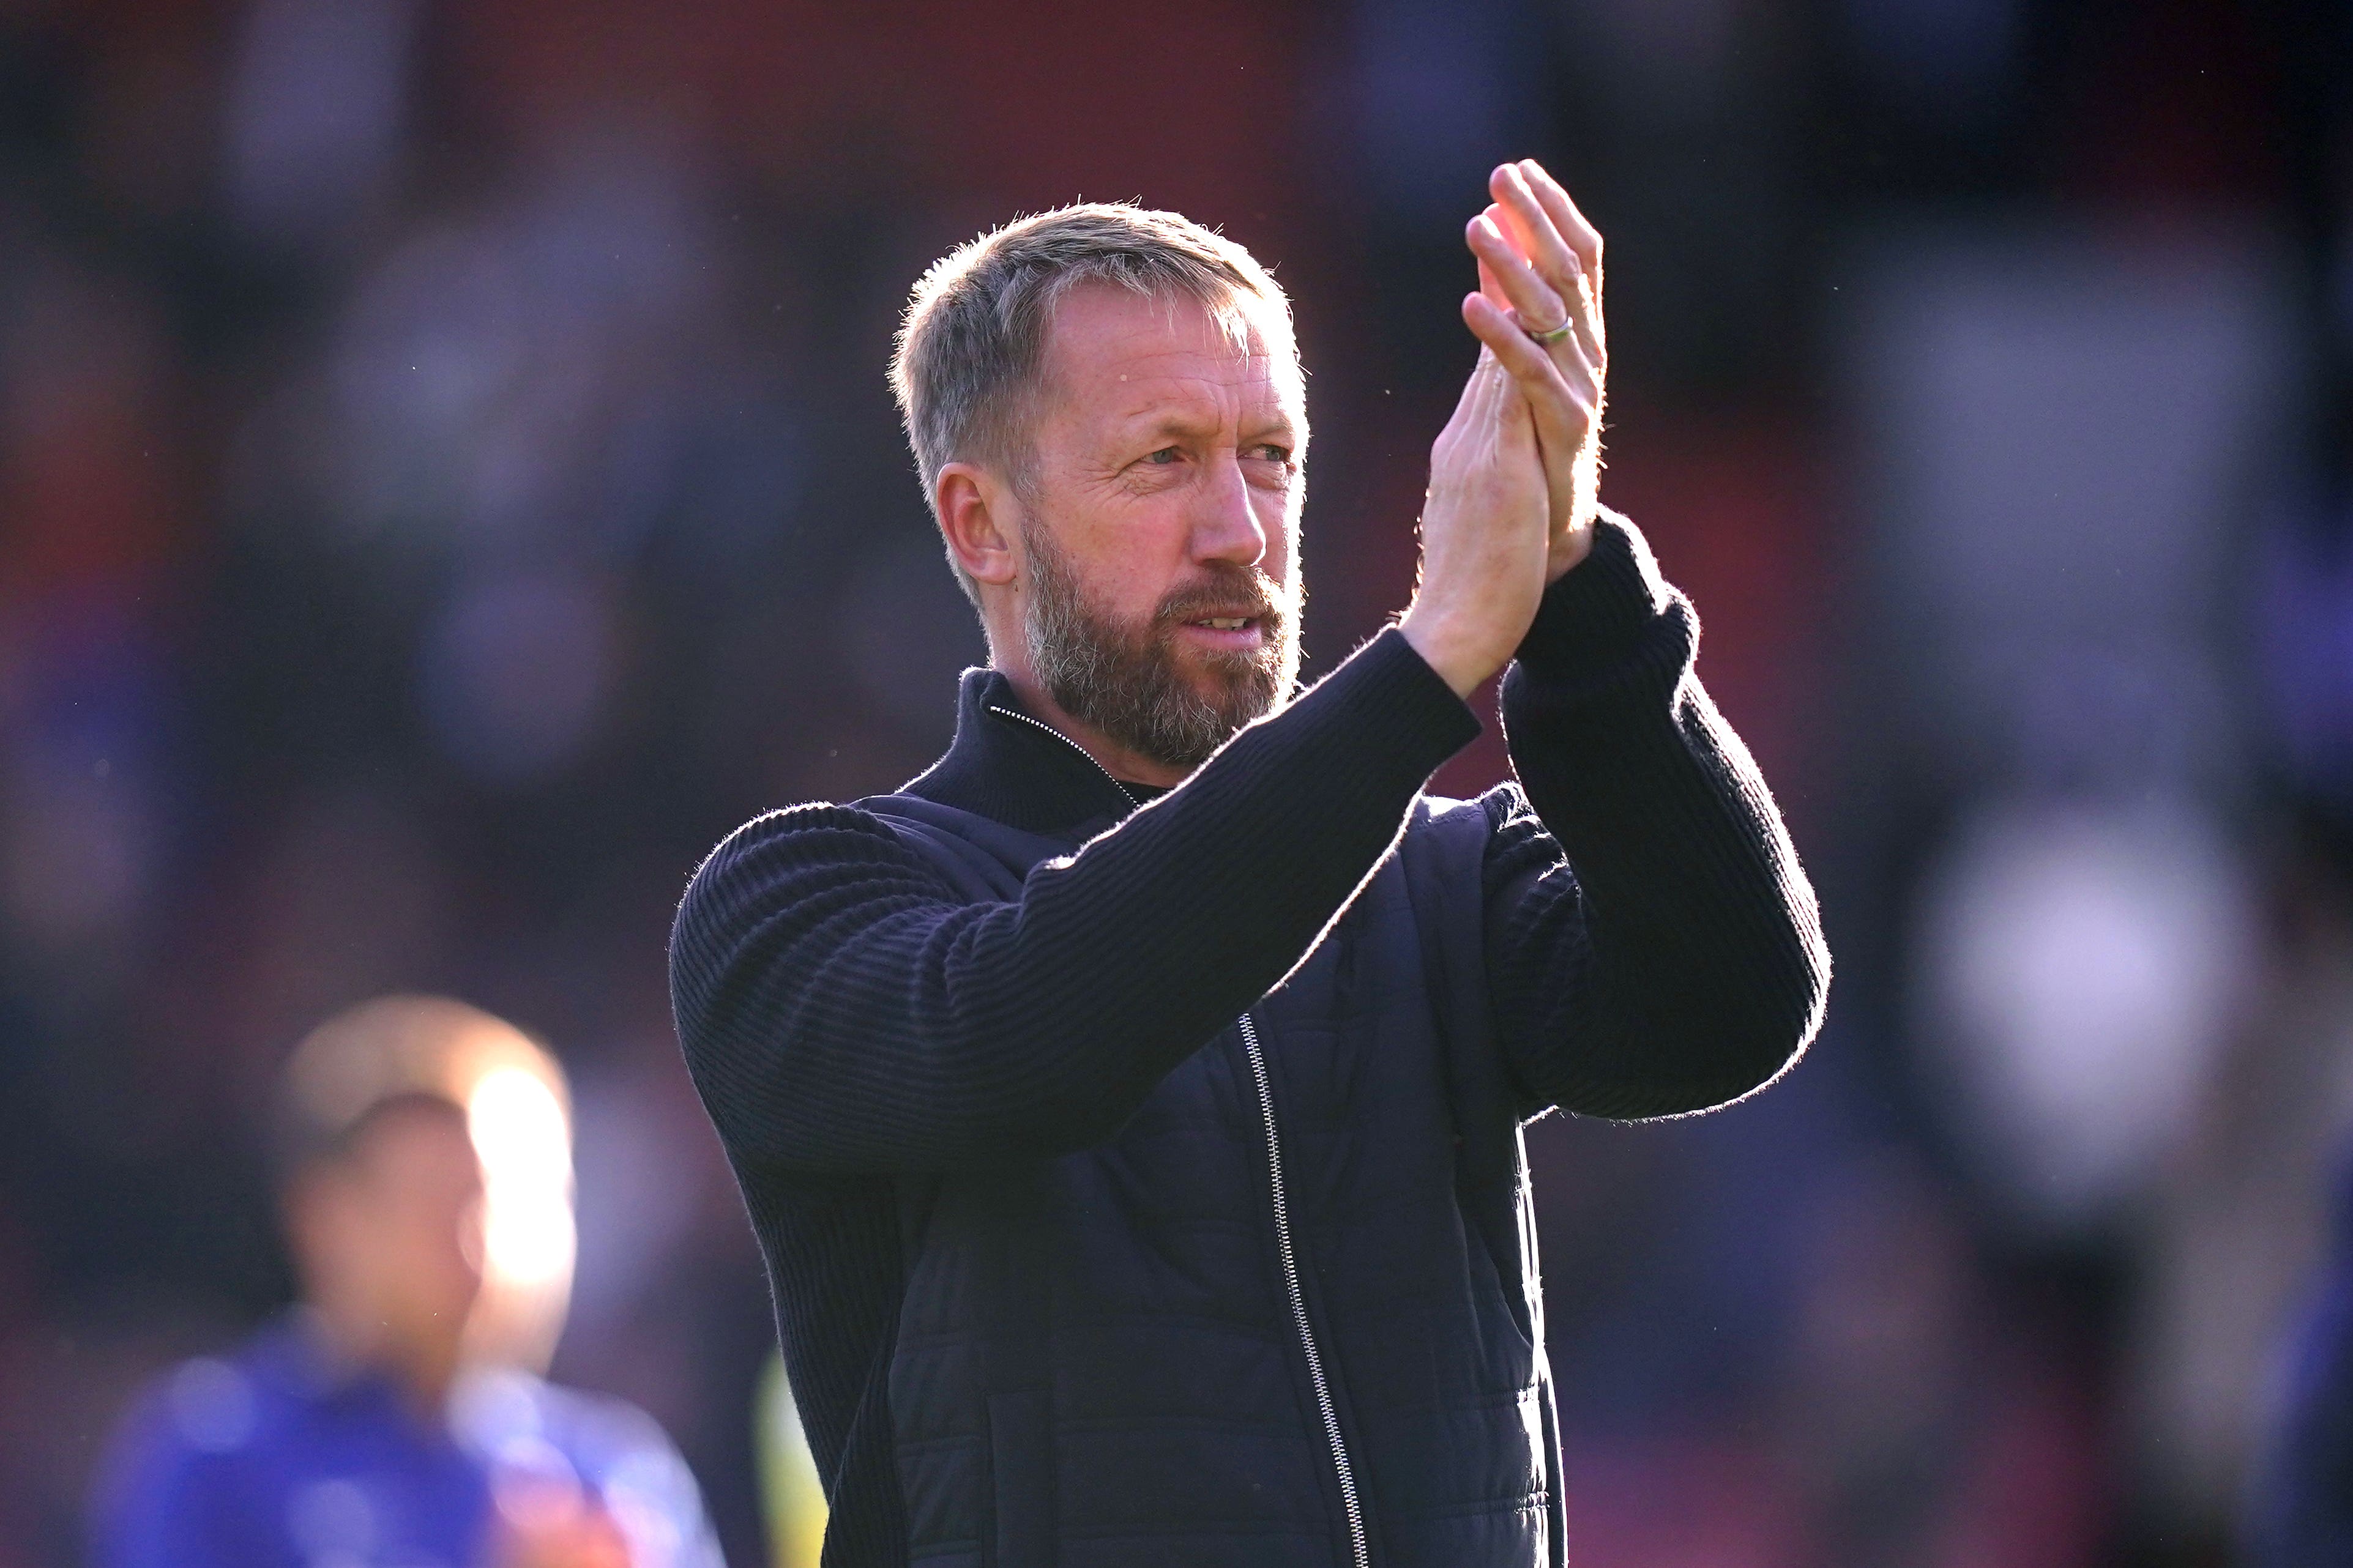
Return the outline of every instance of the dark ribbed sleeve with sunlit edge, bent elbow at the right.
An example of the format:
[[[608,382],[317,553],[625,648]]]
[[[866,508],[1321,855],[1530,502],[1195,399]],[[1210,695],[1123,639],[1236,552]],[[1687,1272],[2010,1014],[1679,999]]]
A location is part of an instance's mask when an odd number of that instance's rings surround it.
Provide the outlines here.
[[[1821,1025],[1814,889],[1697,651],[1689,602],[1605,512],[1504,679],[1525,795],[1485,799],[1489,983],[1532,1107],[1706,1110]]]

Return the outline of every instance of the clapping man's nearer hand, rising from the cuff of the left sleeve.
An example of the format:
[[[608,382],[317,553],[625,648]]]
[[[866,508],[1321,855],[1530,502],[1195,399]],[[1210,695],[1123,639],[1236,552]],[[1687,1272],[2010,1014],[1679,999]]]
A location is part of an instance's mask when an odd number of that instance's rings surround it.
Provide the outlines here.
[[[1487,214],[1471,221],[1475,254],[1504,242]],[[1421,578],[1398,623],[1457,696],[1511,661],[1544,599],[1551,484],[1537,414],[1551,425],[1586,418],[1553,357],[1492,299],[1466,296],[1464,322],[1482,348],[1431,449]]]

